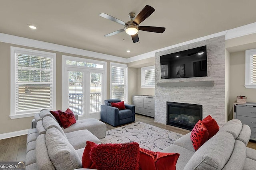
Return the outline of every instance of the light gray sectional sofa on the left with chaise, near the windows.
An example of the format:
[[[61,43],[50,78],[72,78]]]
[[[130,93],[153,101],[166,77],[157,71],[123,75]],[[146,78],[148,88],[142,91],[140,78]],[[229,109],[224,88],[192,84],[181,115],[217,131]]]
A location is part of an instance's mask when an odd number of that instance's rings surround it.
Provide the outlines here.
[[[99,139],[106,136],[106,124],[94,118],[77,120],[66,129],[47,109],[34,118],[27,137],[26,170],[81,168],[86,141],[102,143]]]

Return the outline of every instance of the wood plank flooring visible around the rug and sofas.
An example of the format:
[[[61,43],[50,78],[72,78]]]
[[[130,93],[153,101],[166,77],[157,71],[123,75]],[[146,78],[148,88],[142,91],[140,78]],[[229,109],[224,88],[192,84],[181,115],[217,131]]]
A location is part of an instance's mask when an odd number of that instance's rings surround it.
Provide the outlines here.
[[[135,120],[136,122],[140,121],[156,127],[160,127],[162,129],[167,129],[169,131],[180,133],[182,135],[186,135],[187,133],[190,132],[186,129],[181,129],[181,128],[170,126],[170,125],[163,125],[161,123],[156,123],[154,122],[153,118],[145,117],[142,115],[136,114]],[[107,130],[114,129],[114,128],[116,127],[112,127],[111,125],[107,124]],[[27,141],[27,135],[0,140],[0,161],[25,161],[26,141]],[[256,149],[256,142],[249,141],[247,147]]]

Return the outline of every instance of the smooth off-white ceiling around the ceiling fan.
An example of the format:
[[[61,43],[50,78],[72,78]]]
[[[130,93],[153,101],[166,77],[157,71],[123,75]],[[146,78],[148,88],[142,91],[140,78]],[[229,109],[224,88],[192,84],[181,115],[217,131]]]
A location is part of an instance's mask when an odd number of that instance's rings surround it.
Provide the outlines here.
[[[140,25],[166,27],[164,33],[139,31],[139,43],[126,33],[104,37],[124,26],[100,13],[127,22],[146,5],[156,11]],[[0,33],[129,58],[254,23],[255,6],[256,0],[0,0]]]

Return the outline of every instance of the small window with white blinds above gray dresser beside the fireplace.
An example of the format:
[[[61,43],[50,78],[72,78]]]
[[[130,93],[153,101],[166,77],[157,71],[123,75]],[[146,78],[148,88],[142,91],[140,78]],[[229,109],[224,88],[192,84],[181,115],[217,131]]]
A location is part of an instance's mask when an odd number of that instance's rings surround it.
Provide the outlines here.
[[[155,88],[155,66],[141,68],[141,88]]]

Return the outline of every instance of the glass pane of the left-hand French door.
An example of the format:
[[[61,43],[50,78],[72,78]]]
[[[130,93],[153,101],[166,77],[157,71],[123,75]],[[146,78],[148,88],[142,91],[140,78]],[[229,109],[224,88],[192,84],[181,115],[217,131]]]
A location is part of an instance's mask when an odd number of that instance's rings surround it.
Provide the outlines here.
[[[68,72],[68,105],[78,115],[84,114],[83,72]]]

